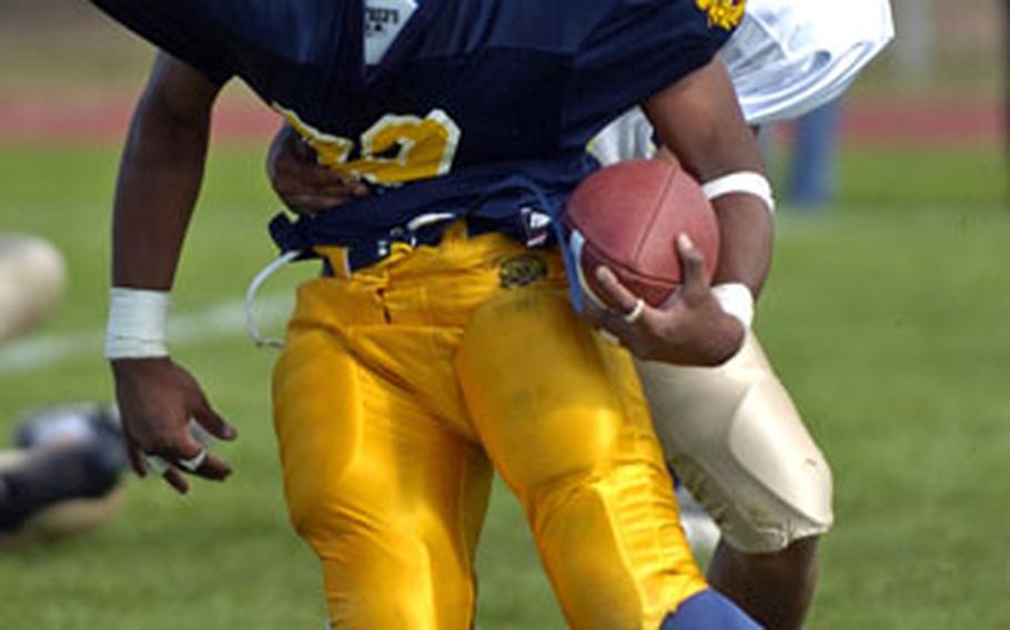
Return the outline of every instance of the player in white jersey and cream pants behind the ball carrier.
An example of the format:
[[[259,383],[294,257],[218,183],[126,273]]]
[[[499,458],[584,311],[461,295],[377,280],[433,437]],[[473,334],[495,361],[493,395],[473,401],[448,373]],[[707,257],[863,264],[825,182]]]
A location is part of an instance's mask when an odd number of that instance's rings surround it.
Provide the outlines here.
[[[887,0],[750,0],[720,57],[757,128],[837,99],[892,35]],[[267,161],[290,207],[312,214],[367,194],[293,139],[282,131]],[[590,148],[604,164],[652,156],[655,133],[636,109]],[[749,309],[739,287],[718,291]],[[756,338],[718,368],[637,365],[669,461],[718,519],[711,583],[768,627],[799,627],[817,577],[817,537],[832,520],[831,476]]]

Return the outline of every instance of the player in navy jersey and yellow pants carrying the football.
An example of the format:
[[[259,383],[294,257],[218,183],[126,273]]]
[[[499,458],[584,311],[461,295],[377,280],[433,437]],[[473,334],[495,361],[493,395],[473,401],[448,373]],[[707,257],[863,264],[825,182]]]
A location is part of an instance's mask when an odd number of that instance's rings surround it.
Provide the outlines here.
[[[690,557],[629,357],[572,309],[557,247],[527,246],[595,167],[589,139],[644,102],[685,167],[720,186],[717,282],[759,292],[761,160],[714,59],[743,2],[424,0],[384,29],[367,0],[94,2],[165,51],[114,211],[105,354],[138,471],[156,456],[181,491],[184,472],[230,474],[188,427],[235,430],[169,358],[164,318],[213,102],[238,75],[375,193],[271,226],[287,257],[325,263],[299,291],[273,394],[289,511],[323,562],[331,623],[469,627],[494,469],[574,627],[755,627]],[[717,365],[745,326],[699,252],[679,252],[689,298],[647,317],[612,306],[644,356]]]

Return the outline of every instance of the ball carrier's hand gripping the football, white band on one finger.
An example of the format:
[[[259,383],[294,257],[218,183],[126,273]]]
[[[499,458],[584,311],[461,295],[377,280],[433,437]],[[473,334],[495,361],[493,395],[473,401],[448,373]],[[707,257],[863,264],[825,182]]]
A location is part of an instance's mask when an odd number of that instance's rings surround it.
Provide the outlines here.
[[[596,270],[605,307],[587,301],[585,316],[616,336],[636,357],[677,365],[716,366],[737,353],[744,326],[711,292],[704,257],[686,234],[677,238],[684,283],[669,306],[645,303],[605,266]]]

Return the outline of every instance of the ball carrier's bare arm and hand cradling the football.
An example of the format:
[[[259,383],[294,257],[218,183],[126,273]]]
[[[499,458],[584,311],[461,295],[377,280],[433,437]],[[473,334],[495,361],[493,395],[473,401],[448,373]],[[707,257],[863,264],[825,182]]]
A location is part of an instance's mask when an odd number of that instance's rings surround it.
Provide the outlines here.
[[[757,142],[744,122],[736,94],[718,60],[654,95],[644,104],[664,145],[700,182],[739,171],[764,173]],[[772,223],[764,202],[749,194],[727,194],[713,202],[719,222],[720,255],[715,284],[740,283],[756,298],[771,257]],[[637,357],[680,365],[713,366],[731,357],[745,327],[725,312],[704,273],[701,253],[677,243],[684,284],[668,308],[645,305],[606,267],[597,270],[608,308],[590,309],[589,319],[616,335]]]

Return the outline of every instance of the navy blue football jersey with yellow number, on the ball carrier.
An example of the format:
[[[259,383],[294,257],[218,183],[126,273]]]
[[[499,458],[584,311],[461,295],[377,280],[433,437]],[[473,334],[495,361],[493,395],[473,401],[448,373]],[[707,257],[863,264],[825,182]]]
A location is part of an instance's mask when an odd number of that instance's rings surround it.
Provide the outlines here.
[[[608,121],[706,64],[744,0],[424,0],[376,64],[363,0],[93,0],[211,81],[245,81],[376,194],[279,228],[357,246],[421,215],[518,234]]]

